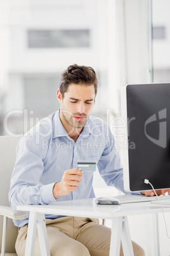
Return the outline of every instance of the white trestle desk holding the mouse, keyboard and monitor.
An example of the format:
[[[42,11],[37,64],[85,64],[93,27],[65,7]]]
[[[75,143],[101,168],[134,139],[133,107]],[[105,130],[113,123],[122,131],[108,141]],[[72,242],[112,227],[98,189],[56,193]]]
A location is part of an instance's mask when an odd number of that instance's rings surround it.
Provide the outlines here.
[[[162,207],[164,208],[164,212],[170,211],[170,206],[164,205]],[[34,255],[36,231],[38,231],[39,235],[41,255],[50,255],[45,214],[112,219],[110,256],[119,256],[121,240],[124,256],[131,256],[134,254],[127,216],[161,212],[159,204],[150,204],[150,202],[103,206],[96,205],[95,199],[60,201],[48,205],[18,206],[17,210],[30,212],[27,244],[25,248],[26,256]]]

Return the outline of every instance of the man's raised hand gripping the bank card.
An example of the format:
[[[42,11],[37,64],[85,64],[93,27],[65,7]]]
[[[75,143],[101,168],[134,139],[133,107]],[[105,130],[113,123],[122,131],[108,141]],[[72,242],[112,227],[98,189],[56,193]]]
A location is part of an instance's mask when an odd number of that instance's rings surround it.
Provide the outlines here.
[[[82,172],[75,168],[64,172],[62,180],[55,183],[53,187],[53,196],[57,199],[60,196],[67,196],[71,191],[77,190],[79,182],[81,182]]]

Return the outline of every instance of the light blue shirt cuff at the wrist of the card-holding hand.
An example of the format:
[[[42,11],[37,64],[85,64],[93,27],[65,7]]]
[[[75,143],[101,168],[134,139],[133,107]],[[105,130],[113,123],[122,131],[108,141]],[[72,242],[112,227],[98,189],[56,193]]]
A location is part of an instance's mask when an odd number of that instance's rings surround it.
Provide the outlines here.
[[[55,183],[50,183],[48,185],[42,186],[42,201],[44,204],[50,204],[55,202],[55,197],[53,196],[53,187]]]

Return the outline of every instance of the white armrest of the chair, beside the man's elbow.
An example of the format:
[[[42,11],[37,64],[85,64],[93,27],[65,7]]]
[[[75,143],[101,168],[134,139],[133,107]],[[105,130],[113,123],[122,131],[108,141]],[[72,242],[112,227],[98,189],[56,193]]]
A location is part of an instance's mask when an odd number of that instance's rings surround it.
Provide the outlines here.
[[[0,215],[12,218],[13,220],[22,220],[27,217],[25,211],[15,211],[10,206],[0,206]]]

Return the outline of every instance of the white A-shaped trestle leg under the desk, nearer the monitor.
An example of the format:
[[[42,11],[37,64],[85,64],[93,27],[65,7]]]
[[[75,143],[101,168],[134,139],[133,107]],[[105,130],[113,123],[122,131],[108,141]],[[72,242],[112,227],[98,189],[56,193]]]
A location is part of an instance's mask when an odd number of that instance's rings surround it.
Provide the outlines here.
[[[134,256],[127,217],[115,217],[112,220],[109,256],[120,256],[121,238],[124,256]]]

